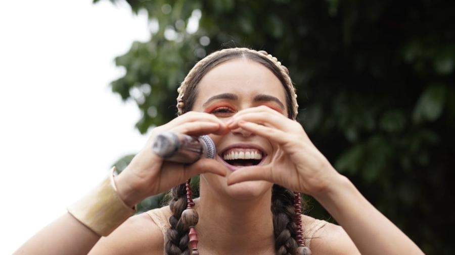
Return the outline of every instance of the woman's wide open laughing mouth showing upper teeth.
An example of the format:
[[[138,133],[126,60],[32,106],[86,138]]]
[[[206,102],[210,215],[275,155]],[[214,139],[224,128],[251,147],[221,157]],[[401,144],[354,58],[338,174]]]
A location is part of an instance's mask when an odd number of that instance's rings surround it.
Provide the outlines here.
[[[240,167],[259,165],[266,154],[256,148],[231,148],[219,156],[230,169],[235,170]]]

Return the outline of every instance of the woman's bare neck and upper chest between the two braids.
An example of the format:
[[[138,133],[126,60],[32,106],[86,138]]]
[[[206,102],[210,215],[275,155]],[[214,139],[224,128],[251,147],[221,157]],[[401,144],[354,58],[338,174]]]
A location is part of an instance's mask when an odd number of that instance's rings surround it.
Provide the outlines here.
[[[198,235],[203,250],[216,254],[274,253],[271,189],[251,200],[235,200],[204,190],[208,187],[202,183],[200,188],[197,228],[201,229]]]

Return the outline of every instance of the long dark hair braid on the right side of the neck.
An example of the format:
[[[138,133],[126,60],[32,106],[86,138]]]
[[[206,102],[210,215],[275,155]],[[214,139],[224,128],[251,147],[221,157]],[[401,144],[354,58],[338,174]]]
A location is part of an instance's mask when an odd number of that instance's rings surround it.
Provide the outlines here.
[[[278,255],[294,255],[297,250],[294,193],[274,184],[271,211],[274,221],[275,250]]]

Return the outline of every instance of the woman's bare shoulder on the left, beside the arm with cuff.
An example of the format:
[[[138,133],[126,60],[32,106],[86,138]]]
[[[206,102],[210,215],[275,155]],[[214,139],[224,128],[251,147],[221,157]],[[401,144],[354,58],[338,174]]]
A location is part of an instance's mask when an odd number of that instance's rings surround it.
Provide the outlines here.
[[[160,254],[163,249],[161,229],[147,213],[142,213],[102,237],[89,254]]]

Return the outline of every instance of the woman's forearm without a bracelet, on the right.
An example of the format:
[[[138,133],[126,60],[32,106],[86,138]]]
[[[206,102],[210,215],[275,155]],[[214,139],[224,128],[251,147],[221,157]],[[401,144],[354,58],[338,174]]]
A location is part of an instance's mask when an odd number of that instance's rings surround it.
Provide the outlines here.
[[[337,220],[362,254],[423,254],[398,227],[368,202],[346,177],[314,198]]]

